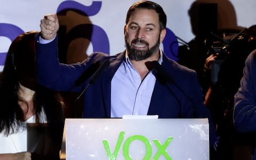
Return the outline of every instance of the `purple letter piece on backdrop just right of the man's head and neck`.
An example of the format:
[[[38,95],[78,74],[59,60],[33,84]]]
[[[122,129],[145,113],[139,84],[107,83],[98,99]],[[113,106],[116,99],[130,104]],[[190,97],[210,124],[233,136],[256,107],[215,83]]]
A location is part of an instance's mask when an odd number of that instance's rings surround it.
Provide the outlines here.
[[[175,34],[168,28],[166,28],[166,35],[163,41],[164,53],[170,59],[177,61],[179,44]]]

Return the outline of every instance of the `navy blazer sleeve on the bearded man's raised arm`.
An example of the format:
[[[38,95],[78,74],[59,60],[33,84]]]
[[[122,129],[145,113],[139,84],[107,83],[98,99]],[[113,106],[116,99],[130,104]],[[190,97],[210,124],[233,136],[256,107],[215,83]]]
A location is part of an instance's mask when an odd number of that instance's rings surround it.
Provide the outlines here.
[[[57,37],[46,44],[39,43],[39,34],[35,37],[36,77],[40,85],[58,91],[81,91],[82,86],[75,82],[89,66],[91,54],[83,62],[67,65],[59,62]]]

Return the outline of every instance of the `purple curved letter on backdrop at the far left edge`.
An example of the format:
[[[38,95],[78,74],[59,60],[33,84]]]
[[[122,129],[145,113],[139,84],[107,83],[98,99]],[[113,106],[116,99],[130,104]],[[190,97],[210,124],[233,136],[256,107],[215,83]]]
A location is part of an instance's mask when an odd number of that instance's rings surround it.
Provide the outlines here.
[[[8,23],[0,23],[0,36],[7,37],[11,40],[11,42],[20,34],[23,34],[24,31],[17,26],[8,24]],[[0,53],[0,65],[4,65],[4,61],[6,58],[6,52]]]

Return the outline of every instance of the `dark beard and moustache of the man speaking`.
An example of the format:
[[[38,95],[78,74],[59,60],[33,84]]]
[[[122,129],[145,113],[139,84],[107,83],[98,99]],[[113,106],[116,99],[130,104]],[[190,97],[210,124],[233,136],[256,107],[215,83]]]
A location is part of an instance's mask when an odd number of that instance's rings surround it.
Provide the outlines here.
[[[147,46],[149,46],[149,44],[144,41],[143,39],[133,39],[132,43],[145,43]],[[132,49],[131,46],[129,45],[129,43],[127,42],[127,38],[125,37],[125,44],[126,44],[126,49],[128,52],[128,57],[130,60],[135,60],[135,61],[141,61],[141,60],[145,60],[147,58],[149,58],[154,52],[156,52],[159,49],[159,45],[160,45],[160,36],[157,39],[156,44],[151,47],[151,49],[147,50],[136,50],[136,49]]]

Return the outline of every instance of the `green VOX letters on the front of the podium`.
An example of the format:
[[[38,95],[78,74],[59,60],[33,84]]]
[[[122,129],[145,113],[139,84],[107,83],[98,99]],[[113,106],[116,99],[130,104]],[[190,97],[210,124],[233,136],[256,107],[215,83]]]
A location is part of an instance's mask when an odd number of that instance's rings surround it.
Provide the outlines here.
[[[113,153],[111,153],[108,140],[102,140],[103,146],[106,150],[106,154],[107,154],[109,160],[117,159],[117,155],[118,155],[119,150],[124,141],[124,134],[125,134],[125,132],[119,133],[119,137],[117,139],[116,146],[115,146]],[[166,148],[170,144],[170,142],[173,140],[173,137],[168,137],[163,144],[161,144],[161,142],[159,142],[157,139],[154,139],[153,142],[157,148],[157,152],[154,156],[152,156],[151,143],[146,137],[144,137],[142,135],[133,135],[124,141],[124,143],[123,143],[124,159],[132,160],[132,157],[129,154],[129,148],[130,148],[131,143],[135,140],[141,141],[145,145],[146,152],[145,152],[145,156],[144,156],[143,160],[149,160],[149,159],[157,160],[161,155],[163,155],[165,157],[165,159],[167,159],[167,160],[172,159],[170,157],[170,155],[167,153]]]

